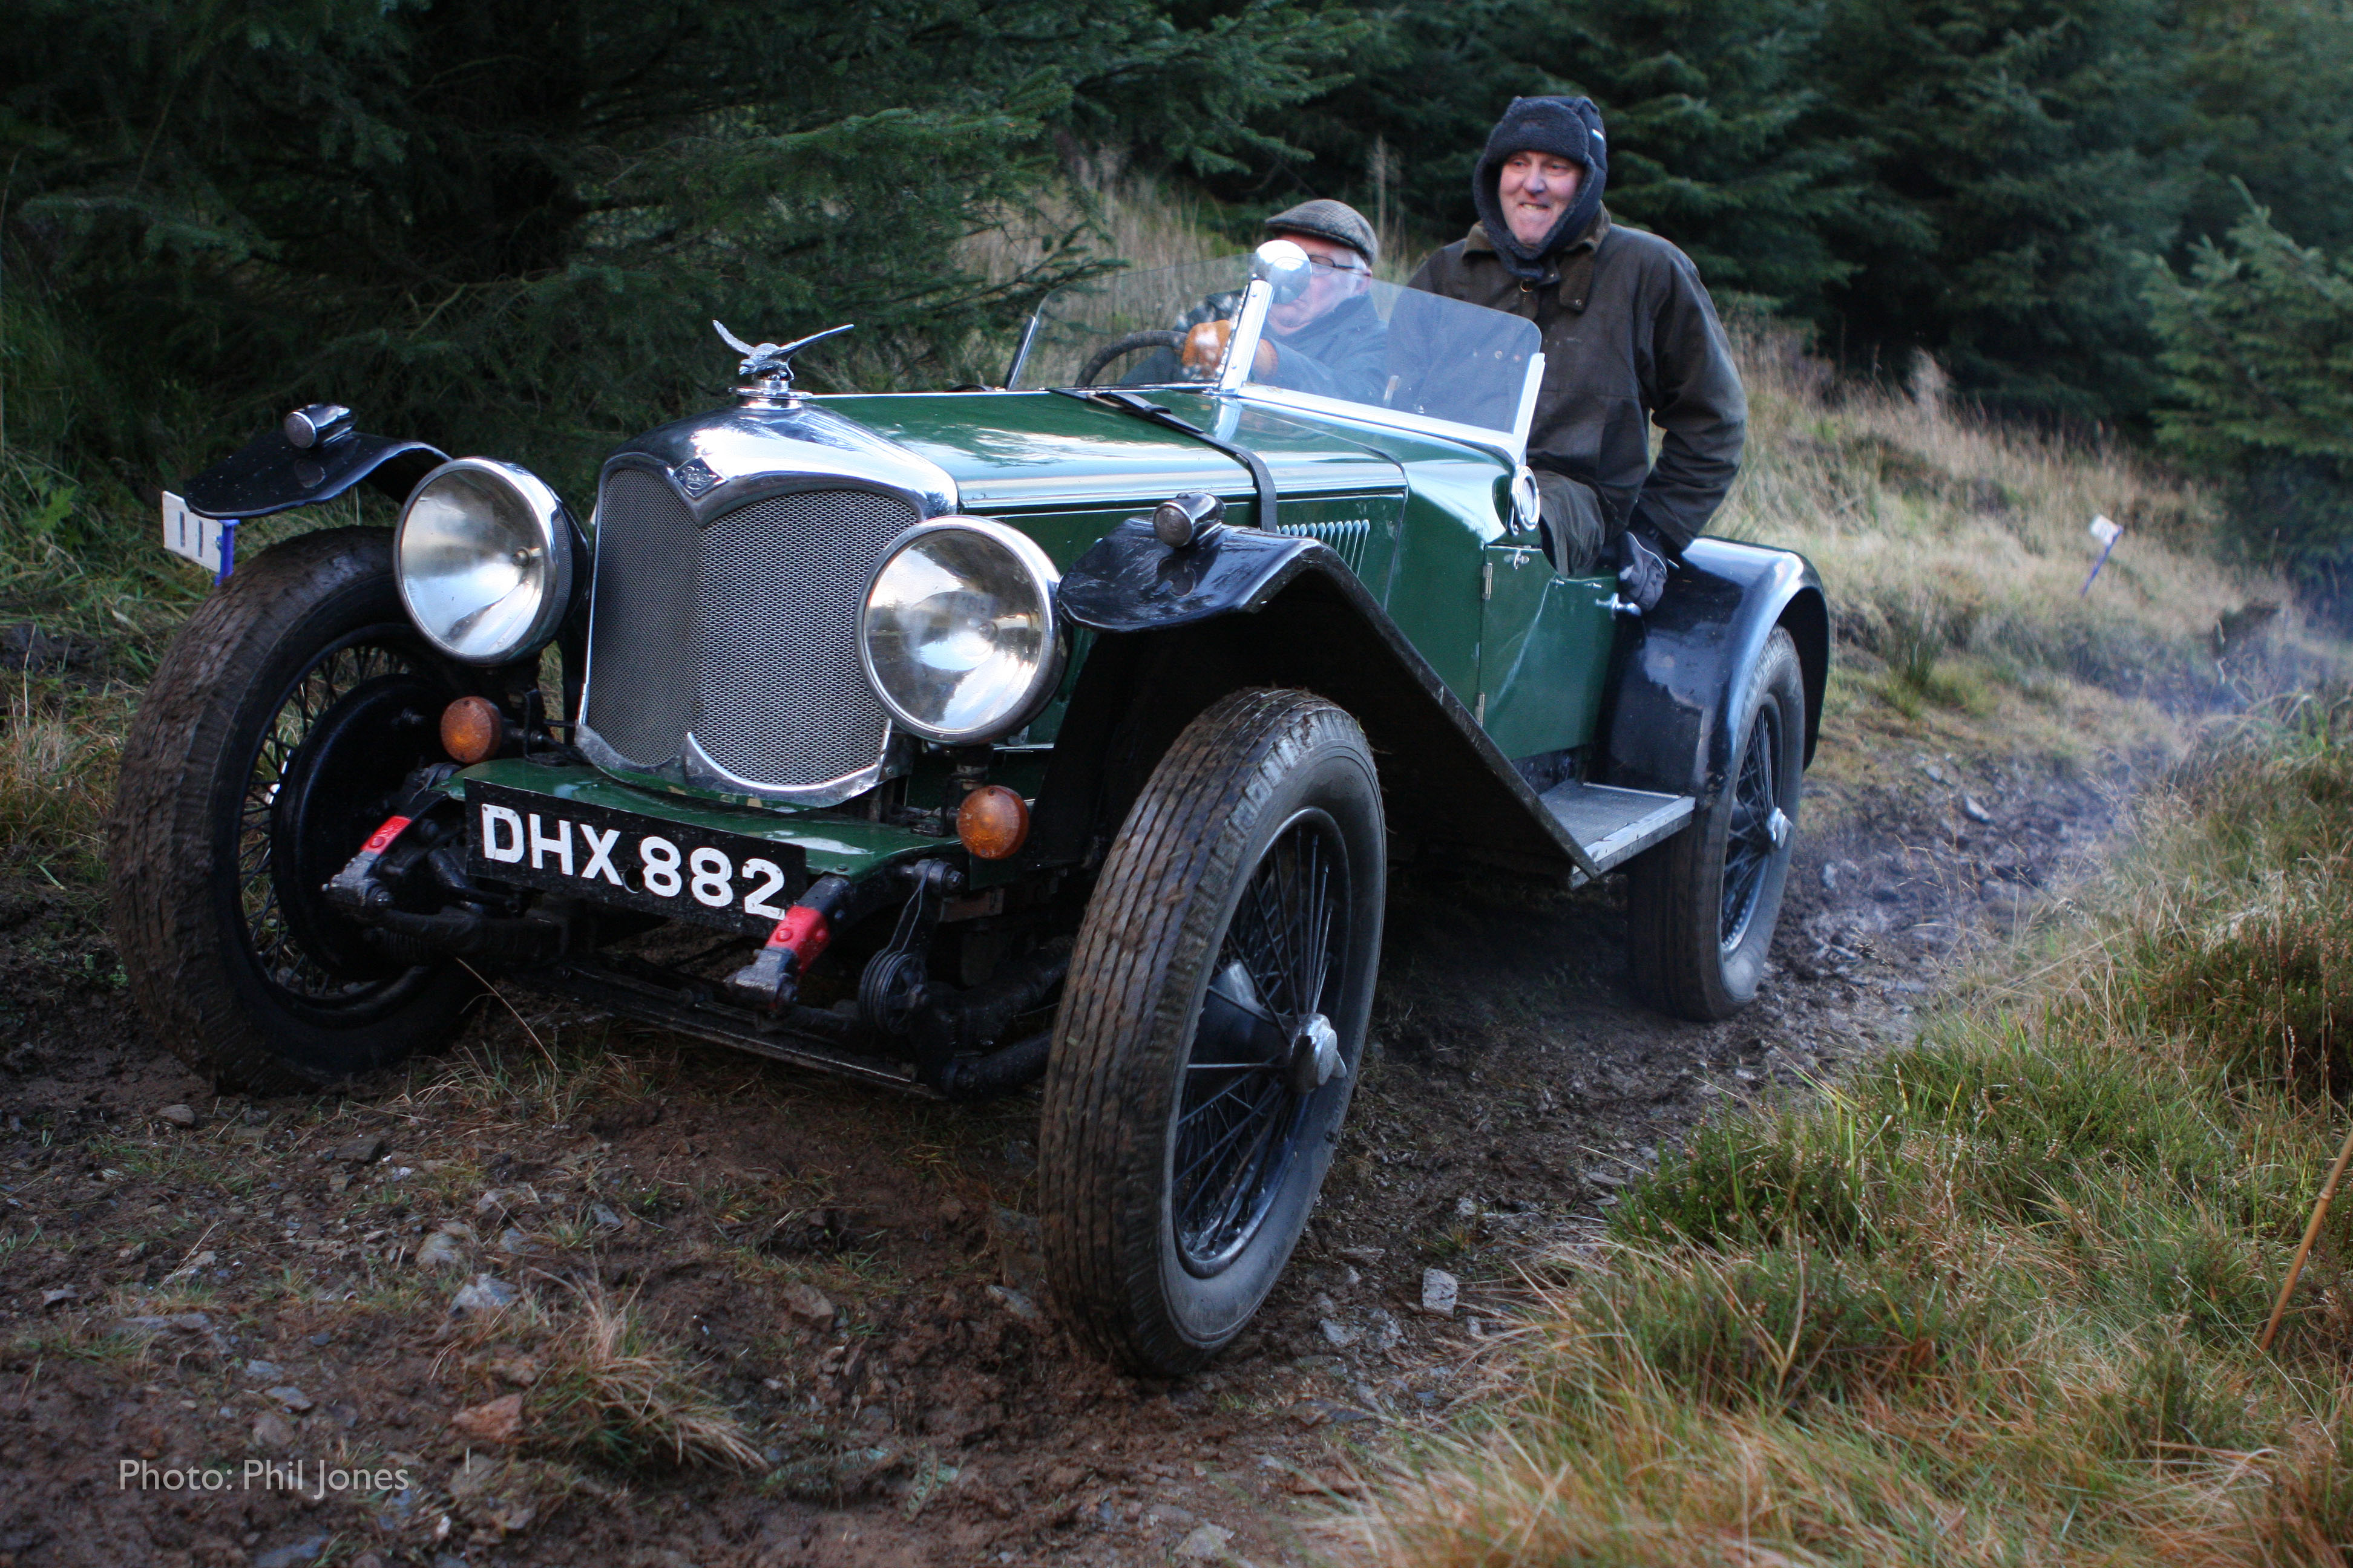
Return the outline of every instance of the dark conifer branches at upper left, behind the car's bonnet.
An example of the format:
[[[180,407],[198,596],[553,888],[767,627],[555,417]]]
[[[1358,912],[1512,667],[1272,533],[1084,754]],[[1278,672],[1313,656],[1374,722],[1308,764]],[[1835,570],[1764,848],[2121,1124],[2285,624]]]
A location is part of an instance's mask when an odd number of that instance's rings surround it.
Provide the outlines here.
[[[1038,197],[1056,134],[1231,167],[1355,28],[1292,0],[0,0],[5,242],[146,418],[174,383],[242,430],[339,397],[579,480],[725,386],[711,317],[859,322],[816,386],[969,374],[1087,266],[991,284],[958,252]],[[82,447],[153,463],[106,402]]]

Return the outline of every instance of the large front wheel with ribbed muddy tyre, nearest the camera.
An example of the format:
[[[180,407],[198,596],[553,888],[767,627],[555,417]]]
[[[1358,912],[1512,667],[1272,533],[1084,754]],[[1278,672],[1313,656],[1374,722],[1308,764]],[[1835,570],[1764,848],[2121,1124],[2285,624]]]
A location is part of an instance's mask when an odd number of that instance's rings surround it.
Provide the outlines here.
[[[1127,813],[1040,1133],[1054,1300],[1115,1361],[1198,1368],[1282,1274],[1355,1088],[1384,853],[1372,748],[1304,691],[1221,698]]]

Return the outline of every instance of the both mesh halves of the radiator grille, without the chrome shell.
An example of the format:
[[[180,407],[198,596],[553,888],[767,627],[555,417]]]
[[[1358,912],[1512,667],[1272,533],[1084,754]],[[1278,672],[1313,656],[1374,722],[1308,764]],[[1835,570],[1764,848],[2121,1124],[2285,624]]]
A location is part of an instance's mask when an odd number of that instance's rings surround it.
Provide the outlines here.
[[[882,705],[859,670],[859,597],[913,522],[896,496],[812,489],[694,529],[668,484],[616,470],[598,524],[588,729],[645,769],[692,731],[736,780],[784,790],[871,766]]]

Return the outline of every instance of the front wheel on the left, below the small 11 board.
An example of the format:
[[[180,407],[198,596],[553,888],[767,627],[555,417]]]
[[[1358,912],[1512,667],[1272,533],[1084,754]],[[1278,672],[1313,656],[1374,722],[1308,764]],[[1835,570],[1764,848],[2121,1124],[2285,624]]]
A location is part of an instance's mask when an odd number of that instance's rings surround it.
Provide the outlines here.
[[[384,957],[320,896],[440,759],[464,677],[414,632],[386,529],[275,545],[174,637],[108,820],[115,947],[155,1037],[235,1088],[299,1088],[440,1046],[478,992]]]

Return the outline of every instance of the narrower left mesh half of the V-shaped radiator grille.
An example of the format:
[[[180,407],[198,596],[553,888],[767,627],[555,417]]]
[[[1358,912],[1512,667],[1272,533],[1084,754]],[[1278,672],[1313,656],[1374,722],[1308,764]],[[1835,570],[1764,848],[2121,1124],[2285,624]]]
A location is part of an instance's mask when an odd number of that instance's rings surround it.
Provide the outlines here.
[[[678,755],[694,696],[694,517],[633,468],[605,480],[588,621],[588,726],[642,766]]]

